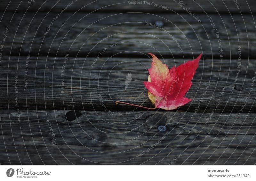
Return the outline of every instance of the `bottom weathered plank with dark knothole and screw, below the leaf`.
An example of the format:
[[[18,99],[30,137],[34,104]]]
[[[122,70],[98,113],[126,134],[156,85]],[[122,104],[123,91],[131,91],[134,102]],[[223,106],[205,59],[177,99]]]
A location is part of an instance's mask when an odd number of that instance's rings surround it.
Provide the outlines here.
[[[253,113],[214,113],[206,125],[210,113],[20,111],[20,123],[0,113],[1,164],[255,164]]]

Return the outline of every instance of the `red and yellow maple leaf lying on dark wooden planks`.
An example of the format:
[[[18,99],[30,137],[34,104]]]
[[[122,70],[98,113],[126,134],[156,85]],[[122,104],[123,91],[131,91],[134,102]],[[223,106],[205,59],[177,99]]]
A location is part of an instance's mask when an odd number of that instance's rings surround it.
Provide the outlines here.
[[[148,81],[144,82],[144,85],[148,89],[148,98],[155,107],[173,110],[190,102],[192,99],[184,96],[192,85],[191,80],[202,54],[193,61],[171,69],[168,69],[154,54],[150,55],[152,64],[148,69]]]

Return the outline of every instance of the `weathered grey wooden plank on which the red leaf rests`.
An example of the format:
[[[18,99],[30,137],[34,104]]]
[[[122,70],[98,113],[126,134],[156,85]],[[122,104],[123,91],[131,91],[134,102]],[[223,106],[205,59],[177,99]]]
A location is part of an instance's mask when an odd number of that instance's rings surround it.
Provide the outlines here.
[[[94,60],[68,57],[65,62],[65,57],[3,56],[0,108],[145,111],[135,106],[116,105],[117,100],[152,106],[143,84],[151,66],[149,57],[132,60],[101,57],[91,67]],[[163,61],[172,67],[187,59]],[[193,101],[178,111],[255,112],[256,63],[245,59],[241,65],[239,62],[202,58],[186,96]],[[129,73],[132,80],[125,90]]]

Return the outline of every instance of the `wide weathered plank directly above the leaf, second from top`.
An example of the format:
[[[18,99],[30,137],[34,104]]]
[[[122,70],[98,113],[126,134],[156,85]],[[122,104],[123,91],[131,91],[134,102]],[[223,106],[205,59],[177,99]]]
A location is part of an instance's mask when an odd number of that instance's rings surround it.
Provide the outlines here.
[[[188,13],[7,12],[0,31],[6,38],[9,26],[3,55],[65,56],[68,52],[69,56],[96,57],[103,51],[99,56],[145,57],[152,52],[190,58],[203,52],[208,58],[236,59],[241,46],[244,58],[256,58],[254,17],[200,14],[200,19],[199,23]],[[164,23],[162,28],[145,25],[157,21]]]

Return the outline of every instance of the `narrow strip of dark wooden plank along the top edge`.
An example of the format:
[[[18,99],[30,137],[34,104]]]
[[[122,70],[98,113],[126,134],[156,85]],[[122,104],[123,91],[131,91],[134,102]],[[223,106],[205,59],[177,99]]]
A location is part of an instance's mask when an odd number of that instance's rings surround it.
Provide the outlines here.
[[[108,0],[108,1],[92,1],[92,0],[61,0],[58,2],[57,0],[47,1],[44,0],[36,0],[34,2],[31,1],[31,4],[28,1],[18,1],[18,0],[1,0],[0,10],[4,11],[56,11],[59,12],[66,6],[68,6],[65,11],[97,11],[97,12],[106,12],[106,11],[140,11],[140,12],[166,12],[166,11],[175,11],[175,12],[183,12],[185,11],[183,8],[190,8],[192,12],[218,12],[218,13],[237,13],[237,12],[255,12],[256,6],[253,0],[239,0],[234,2],[234,0],[197,0],[197,1],[189,1],[183,0],[174,1],[174,0],[158,0],[157,3],[154,1],[148,1],[150,4],[145,4],[143,1],[141,4],[132,4],[130,2],[134,1],[117,1],[117,0]],[[140,1],[139,1],[140,2]],[[71,4],[70,4],[71,3]],[[152,4],[153,3],[153,4]],[[154,5],[154,4],[159,4]],[[160,7],[163,5],[163,7]],[[183,6],[182,6],[183,5]],[[166,8],[164,7],[166,6]],[[164,9],[163,9],[164,8]],[[169,8],[169,9],[168,9]]]

